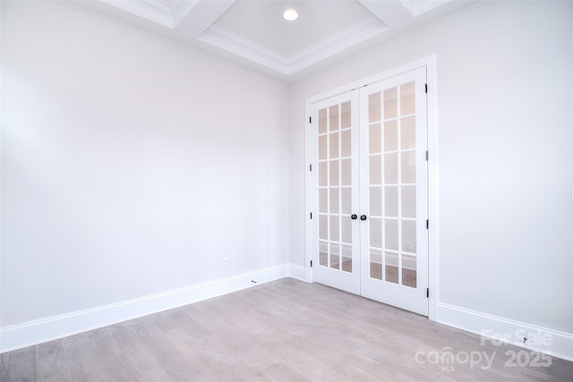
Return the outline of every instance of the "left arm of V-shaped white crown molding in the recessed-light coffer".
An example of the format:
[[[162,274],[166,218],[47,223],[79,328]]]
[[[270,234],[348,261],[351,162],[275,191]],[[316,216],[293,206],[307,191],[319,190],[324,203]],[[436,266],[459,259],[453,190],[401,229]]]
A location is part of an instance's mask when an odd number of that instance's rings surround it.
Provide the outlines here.
[[[227,52],[240,55],[254,63],[267,66],[277,72],[290,74],[288,59],[284,55],[216,24],[211,25],[198,39],[214,47],[227,50]]]

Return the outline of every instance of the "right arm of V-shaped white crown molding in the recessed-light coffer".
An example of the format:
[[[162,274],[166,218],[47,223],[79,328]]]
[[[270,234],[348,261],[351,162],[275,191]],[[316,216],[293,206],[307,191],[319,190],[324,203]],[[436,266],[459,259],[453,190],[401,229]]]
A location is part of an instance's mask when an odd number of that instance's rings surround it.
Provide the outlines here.
[[[354,47],[369,38],[372,38],[386,30],[388,26],[374,16],[366,16],[356,21],[344,30],[324,38],[318,43],[289,57],[291,72],[298,72],[304,68],[316,64],[319,61],[336,55],[349,47]]]

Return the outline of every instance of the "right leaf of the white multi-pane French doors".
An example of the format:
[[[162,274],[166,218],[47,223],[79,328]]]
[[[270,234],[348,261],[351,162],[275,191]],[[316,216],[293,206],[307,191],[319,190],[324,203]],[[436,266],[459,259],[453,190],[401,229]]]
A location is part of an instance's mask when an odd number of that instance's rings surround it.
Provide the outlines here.
[[[361,89],[361,293],[428,314],[425,69]]]

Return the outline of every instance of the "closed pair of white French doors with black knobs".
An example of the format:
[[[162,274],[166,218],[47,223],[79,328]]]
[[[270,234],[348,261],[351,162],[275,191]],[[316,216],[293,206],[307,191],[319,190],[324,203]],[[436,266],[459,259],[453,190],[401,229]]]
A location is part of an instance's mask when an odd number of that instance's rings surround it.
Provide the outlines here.
[[[428,314],[425,68],[312,104],[312,279]]]

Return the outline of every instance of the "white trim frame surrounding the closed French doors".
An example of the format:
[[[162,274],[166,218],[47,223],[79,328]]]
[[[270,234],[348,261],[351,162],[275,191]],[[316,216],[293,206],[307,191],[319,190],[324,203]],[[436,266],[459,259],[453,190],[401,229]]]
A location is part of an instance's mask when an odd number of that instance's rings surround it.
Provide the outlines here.
[[[304,244],[305,256],[304,267],[306,270],[305,276],[307,282],[312,282],[312,225],[310,214],[311,209],[311,172],[308,171],[311,164],[311,123],[309,116],[311,115],[311,106],[313,103],[321,101],[325,98],[337,96],[338,94],[345,93],[352,89],[361,88],[374,82],[383,81],[394,77],[403,72],[425,67],[428,83],[427,94],[427,118],[428,118],[428,219],[430,220],[430,227],[428,232],[428,287],[430,289],[428,301],[428,318],[432,321],[437,321],[437,305],[439,301],[439,283],[438,283],[438,266],[439,266],[439,248],[438,248],[438,123],[437,123],[437,84],[436,84],[436,56],[429,55],[419,60],[415,60],[408,64],[400,65],[396,68],[389,69],[388,71],[375,74],[371,77],[362,80],[354,81],[336,89],[323,92],[311,98],[306,98],[305,102],[305,148],[304,160],[306,164],[306,175],[304,184],[304,210],[306,219],[304,224]]]

